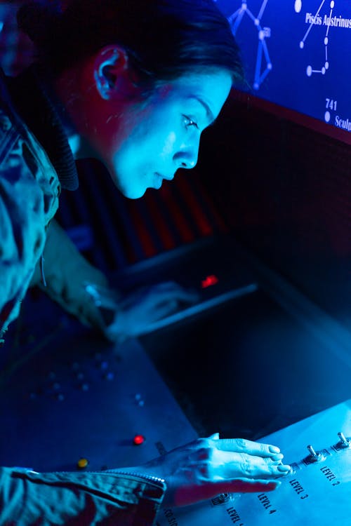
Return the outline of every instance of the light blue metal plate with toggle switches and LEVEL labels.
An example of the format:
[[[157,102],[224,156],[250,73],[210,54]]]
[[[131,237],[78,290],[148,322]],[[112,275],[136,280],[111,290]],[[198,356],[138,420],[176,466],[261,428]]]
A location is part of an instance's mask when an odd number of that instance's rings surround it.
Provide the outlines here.
[[[282,485],[274,492],[221,494],[202,504],[164,509],[158,524],[350,525],[350,436],[348,400],[260,440],[278,445],[285,455],[284,463],[292,466],[291,473],[280,478]]]

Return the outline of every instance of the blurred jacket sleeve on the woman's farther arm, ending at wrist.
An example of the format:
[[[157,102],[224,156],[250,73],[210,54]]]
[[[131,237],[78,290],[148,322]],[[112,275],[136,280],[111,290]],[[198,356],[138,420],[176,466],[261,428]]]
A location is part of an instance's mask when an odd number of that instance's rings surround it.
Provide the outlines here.
[[[86,261],[55,220],[48,228],[43,256],[46,286],[41,276],[40,262],[35,269],[31,285],[38,285],[84,325],[104,328],[101,313],[86,293],[85,285],[90,283],[106,288],[107,278]]]

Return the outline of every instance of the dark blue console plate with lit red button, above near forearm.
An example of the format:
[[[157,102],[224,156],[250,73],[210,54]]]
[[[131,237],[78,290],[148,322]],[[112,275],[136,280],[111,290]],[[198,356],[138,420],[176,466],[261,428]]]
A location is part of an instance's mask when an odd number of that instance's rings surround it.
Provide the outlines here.
[[[65,332],[0,384],[0,466],[139,466],[197,433],[135,339]]]

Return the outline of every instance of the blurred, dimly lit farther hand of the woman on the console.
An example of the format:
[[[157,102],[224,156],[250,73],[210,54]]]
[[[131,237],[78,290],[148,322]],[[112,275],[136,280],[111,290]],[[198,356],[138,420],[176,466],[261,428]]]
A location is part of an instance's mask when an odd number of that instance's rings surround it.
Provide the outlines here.
[[[112,341],[142,335],[153,323],[178,311],[182,304],[193,304],[198,299],[197,292],[173,282],[140,288],[119,302],[117,315],[105,335]]]

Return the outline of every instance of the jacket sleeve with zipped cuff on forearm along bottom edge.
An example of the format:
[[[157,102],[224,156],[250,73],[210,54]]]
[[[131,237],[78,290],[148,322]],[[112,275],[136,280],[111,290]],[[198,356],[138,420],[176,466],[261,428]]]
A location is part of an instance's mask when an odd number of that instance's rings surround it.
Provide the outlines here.
[[[165,490],[134,475],[0,468],[0,524],[152,526]]]

